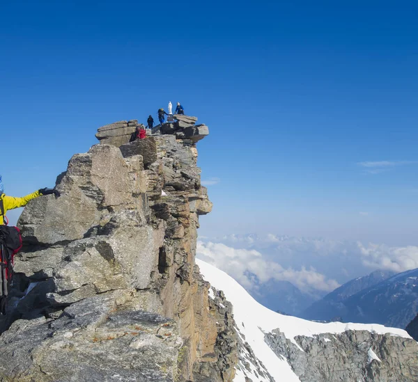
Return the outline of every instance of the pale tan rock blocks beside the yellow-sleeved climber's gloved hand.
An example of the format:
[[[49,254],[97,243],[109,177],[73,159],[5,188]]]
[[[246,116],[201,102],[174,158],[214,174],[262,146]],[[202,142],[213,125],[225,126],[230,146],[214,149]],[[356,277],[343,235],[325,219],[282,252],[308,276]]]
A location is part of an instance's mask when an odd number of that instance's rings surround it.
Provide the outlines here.
[[[137,157],[137,161],[139,158]],[[139,177],[141,173],[138,174]],[[20,216],[26,242],[54,245],[82,239],[113,211],[137,209],[145,222],[141,182],[130,182],[130,167],[121,150],[95,145],[86,154],[70,159],[68,170],[57,189],[62,196],[42,196],[33,200]]]

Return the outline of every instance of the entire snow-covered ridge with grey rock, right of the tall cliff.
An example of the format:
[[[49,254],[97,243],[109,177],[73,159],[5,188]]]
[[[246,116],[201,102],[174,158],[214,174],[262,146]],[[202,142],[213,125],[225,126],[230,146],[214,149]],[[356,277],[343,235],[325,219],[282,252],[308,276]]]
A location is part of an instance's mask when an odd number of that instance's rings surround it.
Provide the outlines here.
[[[234,382],[364,381],[366,377],[379,382],[415,381],[418,344],[405,331],[280,315],[257,303],[223,271],[201,260],[196,264],[215,288],[211,293],[222,290],[233,305],[240,337]]]

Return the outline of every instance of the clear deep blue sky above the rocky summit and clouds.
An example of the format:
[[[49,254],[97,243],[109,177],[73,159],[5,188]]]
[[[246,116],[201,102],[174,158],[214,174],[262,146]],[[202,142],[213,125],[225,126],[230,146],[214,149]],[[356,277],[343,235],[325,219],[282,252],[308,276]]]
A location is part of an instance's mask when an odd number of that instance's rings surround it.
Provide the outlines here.
[[[200,234],[418,244],[416,1],[0,7],[8,194],[52,186],[101,125],[180,101],[219,178]]]

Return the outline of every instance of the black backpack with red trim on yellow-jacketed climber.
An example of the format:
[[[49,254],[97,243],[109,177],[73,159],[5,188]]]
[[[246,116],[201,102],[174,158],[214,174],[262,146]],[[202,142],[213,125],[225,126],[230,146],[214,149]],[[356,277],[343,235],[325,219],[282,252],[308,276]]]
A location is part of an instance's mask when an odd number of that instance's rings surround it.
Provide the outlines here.
[[[0,214],[4,218],[3,199],[0,199]],[[7,296],[13,278],[13,262],[17,252],[22,248],[20,229],[8,225],[0,225],[0,314],[6,315]]]

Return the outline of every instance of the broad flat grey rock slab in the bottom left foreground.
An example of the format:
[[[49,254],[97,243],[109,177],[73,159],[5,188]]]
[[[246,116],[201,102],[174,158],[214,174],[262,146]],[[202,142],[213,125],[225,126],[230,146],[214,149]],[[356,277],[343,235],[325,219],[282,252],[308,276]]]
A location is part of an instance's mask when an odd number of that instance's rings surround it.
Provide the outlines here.
[[[58,319],[15,321],[0,337],[0,381],[175,381],[182,345],[176,323],[121,299],[99,295]]]

